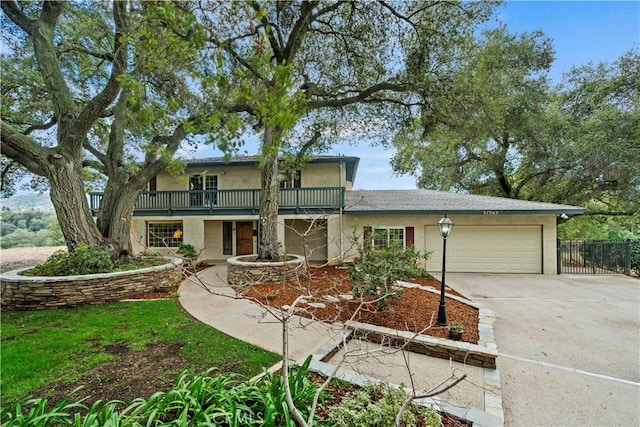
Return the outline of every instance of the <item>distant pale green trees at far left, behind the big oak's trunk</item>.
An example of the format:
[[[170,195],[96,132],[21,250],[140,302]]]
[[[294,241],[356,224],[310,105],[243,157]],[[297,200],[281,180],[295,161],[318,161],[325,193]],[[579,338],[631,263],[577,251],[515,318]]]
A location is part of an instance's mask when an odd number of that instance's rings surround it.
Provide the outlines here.
[[[0,212],[0,248],[60,245],[64,239],[54,214],[6,208]]]

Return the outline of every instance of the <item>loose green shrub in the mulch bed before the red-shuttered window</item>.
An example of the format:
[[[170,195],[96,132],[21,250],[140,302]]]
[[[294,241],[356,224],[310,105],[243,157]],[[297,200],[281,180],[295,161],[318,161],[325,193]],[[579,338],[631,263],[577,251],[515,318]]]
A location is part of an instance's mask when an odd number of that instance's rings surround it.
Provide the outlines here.
[[[413,246],[404,247],[400,242],[389,242],[384,249],[361,249],[354,265],[349,269],[353,291],[356,295],[373,295],[379,304],[385,305],[390,296],[399,296],[394,286],[397,280],[425,277],[427,273],[418,261],[427,259]]]

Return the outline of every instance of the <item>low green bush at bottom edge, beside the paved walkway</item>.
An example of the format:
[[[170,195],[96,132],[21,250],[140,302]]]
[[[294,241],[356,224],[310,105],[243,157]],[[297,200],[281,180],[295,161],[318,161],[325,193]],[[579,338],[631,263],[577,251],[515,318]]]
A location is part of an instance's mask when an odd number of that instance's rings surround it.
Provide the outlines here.
[[[402,404],[409,395],[386,384],[368,384],[345,397],[340,405],[329,411],[330,425],[336,427],[393,427]],[[432,408],[411,405],[402,414],[405,426],[417,425],[420,415],[430,427],[442,425],[440,415]]]

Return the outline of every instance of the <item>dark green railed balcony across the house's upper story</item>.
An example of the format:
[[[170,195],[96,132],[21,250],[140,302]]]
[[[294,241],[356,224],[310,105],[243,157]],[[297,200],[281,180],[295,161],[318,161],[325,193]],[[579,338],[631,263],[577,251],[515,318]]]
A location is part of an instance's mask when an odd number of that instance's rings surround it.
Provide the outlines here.
[[[89,193],[93,215],[100,210],[103,193]],[[280,214],[318,213],[344,207],[343,187],[281,188]],[[255,215],[260,190],[146,191],[140,195],[135,216]]]

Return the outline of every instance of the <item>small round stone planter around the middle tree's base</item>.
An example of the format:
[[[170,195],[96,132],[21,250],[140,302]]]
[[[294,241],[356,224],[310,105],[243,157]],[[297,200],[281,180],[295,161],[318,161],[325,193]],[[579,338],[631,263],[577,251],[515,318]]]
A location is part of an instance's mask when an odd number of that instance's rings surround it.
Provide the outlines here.
[[[257,261],[257,255],[242,255],[227,259],[227,283],[249,286],[260,283],[284,283],[307,274],[307,264],[301,255],[287,255],[283,261]]]

